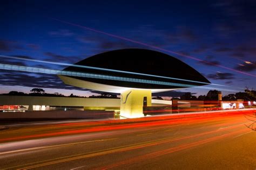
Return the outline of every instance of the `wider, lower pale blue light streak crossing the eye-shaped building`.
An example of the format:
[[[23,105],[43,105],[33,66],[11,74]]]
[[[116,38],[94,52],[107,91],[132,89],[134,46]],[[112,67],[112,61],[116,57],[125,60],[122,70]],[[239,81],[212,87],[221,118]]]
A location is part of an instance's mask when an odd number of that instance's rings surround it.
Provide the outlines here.
[[[137,78],[127,78],[127,77],[117,77],[117,76],[106,76],[102,74],[93,74],[93,73],[83,73],[75,71],[64,71],[64,70],[55,70],[55,69],[43,69],[38,67],[28,67],[28,66],[19,66],[19,65],[10,65],[10,64],[0,64],[0,69],[2,70],[13,70],[13,71],[25,71],[33,73],[45,73],[45,74],[56,74],[64,76],[74,76],[74,77],[85,77],[85,78],[96,78],[96,79],[106,79],[106,80],[116,80],[116,81],[129,81],[134,83],[146,83],[146,84],[157,84],[157,85],[167,85],[167,86],[178,86],[178,87],[195,87],[199,89],[212,89],[211,87],[205,86],[194,86],[190,84],[181,84],[181,83],[171,83],[166,81],[154,81],[146,79],[137,79]],[[230,89],[219,89],[224,91],[238,92]]]

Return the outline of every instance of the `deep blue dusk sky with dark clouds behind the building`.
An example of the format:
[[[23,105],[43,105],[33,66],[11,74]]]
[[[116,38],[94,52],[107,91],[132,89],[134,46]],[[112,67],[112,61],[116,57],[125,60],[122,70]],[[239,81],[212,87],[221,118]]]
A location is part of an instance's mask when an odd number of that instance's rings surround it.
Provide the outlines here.
[[[225,95],[245,87],[256,89],[255,9],[255,1],[3,0],[0,55],[73,64],[110,50],[151,49],[182,60],[211,83],[226,85]],[[65,68],[2,57],[0,63]],[[33,87],[41,87],[49,93],[95,94],[67,86],[51,74],[0,72],[0,93],[28,93]],[[198,96],[209,90],[192,88],[180,92],[190,91]]]

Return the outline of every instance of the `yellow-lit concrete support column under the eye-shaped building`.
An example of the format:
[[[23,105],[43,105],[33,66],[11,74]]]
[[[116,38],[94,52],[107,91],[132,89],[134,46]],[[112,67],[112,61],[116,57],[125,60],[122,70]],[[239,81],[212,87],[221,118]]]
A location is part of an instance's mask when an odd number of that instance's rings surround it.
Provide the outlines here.
[[[151,106],[151,90],[124,91],[120,102],[120,118],[144,117],[143,106]]]

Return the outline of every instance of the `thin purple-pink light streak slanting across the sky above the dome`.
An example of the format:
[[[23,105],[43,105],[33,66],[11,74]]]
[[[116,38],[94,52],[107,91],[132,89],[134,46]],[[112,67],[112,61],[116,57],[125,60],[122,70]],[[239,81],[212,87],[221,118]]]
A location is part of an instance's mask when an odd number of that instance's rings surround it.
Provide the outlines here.
[[[65,24],[77,26],[77,27],[79,27],[79,28],[83,28],[83,29],[86,29],[86,30],[90,30],[90,31],[93,31],[93,32],[102,33],[102,34],[104,34],[104,35],[111,36],[111,37],[114,37],[114,38],[123,39],[123,40],[126,40],[126,41],[128,41],[128,42],[132,42],[132,43],[144,45],[144,46],[147,46],[147,47],[151,47],[151,48],[153,48],[153,49],[157,49],[157,50],[160,50],[160,51],[164,51],[164,52],[168,52],[168,53],[173,53],[173,54],[175,54],[175,55],[179,55],[179,56],[183,56],[183,57],[190,58],[190,59],[193,59],[193,60],[197,60],[197,61],[199,61],[199,62],[203,62],[203,63],[206,63],[206,64],[211,64],[211,62],[207,62],[207,61],[205,61],[205,60],[202,60],[202,59],[199,59],[199,58],[196,58],[196,57],[184,55],[183,53],[179,53],[179,52],[175,52],[175,51],[171,51],[171,50],[166,50],[166,49],[163,49],[163,48],[158,47],[158,46],[154,46],[154,45],[150,45],[150,44],[138,42],[137,40],[133,40],[133,39],[130,39],[130,38],[125,38],[125,37],[113,35],[112,33],[107,33],[107,32],[104,32],[104,31],[100,31],[100,30],[96,30],[96,29],[89,28],[89,27],[87,27],[87,26],[83,26],[83,25],[79,25],[79,24],[75,24],[75,23],[70,23],[70,22],[62,21],[62,20],[57,19],[57,18],[51,18],[51,19],[54,19],[55,21],[59,21],[59,22],[65,23]],[[230,71],[238,72],[238,73],[241,73],[241,74],[245,74],[245,75],[247,75],[247,76],[256,77],[255,74],[251,74],[251,73],[246,73],[246,72],[243,72],[243,71],[235,70],[235,69],[232,69],[232,68],[230,68],[230,67],[223,66],[223,65],[219,65],[219,64],[218,64],[218,65],[216,65],[216,66],[218,66],[218,67],[220,67],[220,68],[223,68],[223,69],[226,69],[226,70],[230,70]]]

